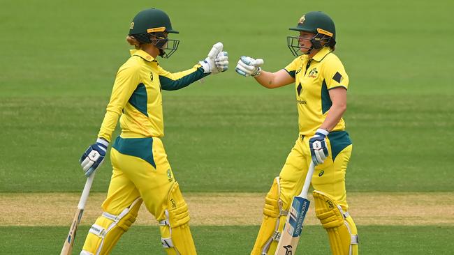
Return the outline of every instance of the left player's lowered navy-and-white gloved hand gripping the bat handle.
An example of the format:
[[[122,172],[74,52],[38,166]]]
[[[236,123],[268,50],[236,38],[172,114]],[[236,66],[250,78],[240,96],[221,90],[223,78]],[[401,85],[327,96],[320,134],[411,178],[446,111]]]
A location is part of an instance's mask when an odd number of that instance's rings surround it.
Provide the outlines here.
[[[80,157],[80,165],[85,171],[85,176],[90,176],[101,164],[103,164],[105,152],[109,142],[98,138],[96,144],[92,144],[85,150],[85,153]]]

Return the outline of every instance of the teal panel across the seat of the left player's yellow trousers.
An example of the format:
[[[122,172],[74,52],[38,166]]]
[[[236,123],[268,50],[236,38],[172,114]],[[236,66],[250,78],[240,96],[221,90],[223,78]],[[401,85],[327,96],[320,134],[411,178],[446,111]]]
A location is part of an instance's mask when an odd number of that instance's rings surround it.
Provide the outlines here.
[[[139,157],[149,162],[155,169],[156,164],[153,158],[153,138],[122,138],[117,137],[112,145],[115,150],[124,155]]]

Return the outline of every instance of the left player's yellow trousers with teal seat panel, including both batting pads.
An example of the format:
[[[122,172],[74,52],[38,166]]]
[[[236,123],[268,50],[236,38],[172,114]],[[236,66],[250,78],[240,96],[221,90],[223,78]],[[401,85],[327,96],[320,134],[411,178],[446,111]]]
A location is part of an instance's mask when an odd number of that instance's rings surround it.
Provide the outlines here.
[[[118,137],[110,160],[112,178],[101,206],[103,215],[91,227],[81,254],[109,254],[136,220],[142,201],[161,225],[161,242],[168,254],[196,254],[187,205],[161,139]]]

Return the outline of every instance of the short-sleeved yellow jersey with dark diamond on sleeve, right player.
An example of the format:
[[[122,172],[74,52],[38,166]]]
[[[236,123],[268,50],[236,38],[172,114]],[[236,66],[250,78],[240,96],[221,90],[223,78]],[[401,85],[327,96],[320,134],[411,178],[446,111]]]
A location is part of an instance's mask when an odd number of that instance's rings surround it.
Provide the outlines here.
[[[300,134],[312,136],[325,121],[332,102],[328,91],[349,87],[344,65],[328,47],[323,47],[312,59],[298,56],[284,68],[295,78],[296,103]],[[332,131],[345,130],[344,119]]]

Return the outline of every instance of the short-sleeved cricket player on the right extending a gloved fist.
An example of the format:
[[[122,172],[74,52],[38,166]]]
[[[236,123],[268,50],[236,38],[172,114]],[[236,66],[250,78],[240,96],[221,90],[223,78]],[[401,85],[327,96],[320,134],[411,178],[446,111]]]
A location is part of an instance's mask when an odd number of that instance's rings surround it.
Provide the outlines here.
[[[310,162],[316,216],[328,232],[332,254],[358,254],[358,231],[349,215],[345,173],[352,143],[342,118],[346,110],[349,77],[333,53],[336,29],[322,12],[303,15],[290,30],[287,44],[297,56],[277,72],[261,70],[262,59],[242,56],[235,68],[265,88],[295,84],[299,135],[279,177],[265,197],[263,222],[251,254],[274,254],[293,196],[304,184]]]

